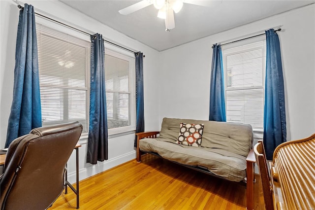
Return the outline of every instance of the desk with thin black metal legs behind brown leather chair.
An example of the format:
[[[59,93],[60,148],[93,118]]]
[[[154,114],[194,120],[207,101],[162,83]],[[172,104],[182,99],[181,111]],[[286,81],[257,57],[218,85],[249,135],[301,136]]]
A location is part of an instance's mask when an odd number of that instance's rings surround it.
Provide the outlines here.
[[[68,193],[68,188],[67,186],[70,187],[70,189],[76,194],[77,196],[77,209],[79,209],[79,147],[81,147],[81,144],[77,144],[75,145],[74,149],[75,149],[75,155],[76,155],[76,189],[74,189],[74,187],[72,186],[72,184],[69,183],[69,181],[67,180],[67,170],[65,171],[65,194]],[[0,166],[4,165],[4,161],[5,161],[5,157],[6,154],[4,155],[0,155]]]

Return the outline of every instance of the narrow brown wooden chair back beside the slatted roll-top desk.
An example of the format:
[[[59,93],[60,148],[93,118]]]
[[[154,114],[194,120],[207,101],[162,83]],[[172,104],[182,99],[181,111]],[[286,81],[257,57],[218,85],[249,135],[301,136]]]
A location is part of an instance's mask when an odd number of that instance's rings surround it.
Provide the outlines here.
[[[267,167],[267,159],[264,149],[264,144],[262,140],[258,140],[258,143],[254,146],[254,152],[256,157],[256,163],[259,168],[259,173],[261,177],[262,183],[262,191],[264,194],[264,201],[266,210],[273,210],[273,202],[272,202],[272,192],[271,192],[271,182],[270,175]]]

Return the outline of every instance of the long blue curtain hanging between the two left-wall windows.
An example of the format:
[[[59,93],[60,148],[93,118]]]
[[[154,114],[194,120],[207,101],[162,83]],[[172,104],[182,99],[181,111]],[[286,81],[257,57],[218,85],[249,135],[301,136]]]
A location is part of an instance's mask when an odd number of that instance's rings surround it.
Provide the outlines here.
[[[90,128],[87,163],[108,159],[108,129],[105,93],[104,42],[102,35],[91,35]]]

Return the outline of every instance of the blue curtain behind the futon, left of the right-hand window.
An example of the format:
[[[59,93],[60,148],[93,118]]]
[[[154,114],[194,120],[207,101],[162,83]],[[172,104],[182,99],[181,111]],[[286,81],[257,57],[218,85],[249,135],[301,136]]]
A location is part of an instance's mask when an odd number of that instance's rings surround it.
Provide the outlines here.
[[[221,46],[213,45],[209,120],[226,121]]]

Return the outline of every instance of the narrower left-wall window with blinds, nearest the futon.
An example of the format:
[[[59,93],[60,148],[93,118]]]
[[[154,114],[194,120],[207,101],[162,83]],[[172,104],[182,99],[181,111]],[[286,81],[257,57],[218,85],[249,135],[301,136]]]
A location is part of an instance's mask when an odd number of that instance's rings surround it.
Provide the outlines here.
[[[135,130],[135,58],[105,49],[108,134]]]

